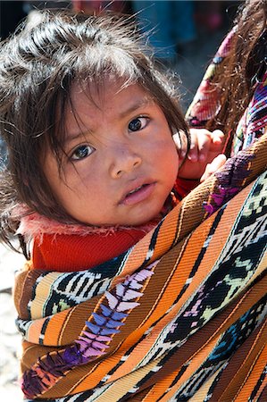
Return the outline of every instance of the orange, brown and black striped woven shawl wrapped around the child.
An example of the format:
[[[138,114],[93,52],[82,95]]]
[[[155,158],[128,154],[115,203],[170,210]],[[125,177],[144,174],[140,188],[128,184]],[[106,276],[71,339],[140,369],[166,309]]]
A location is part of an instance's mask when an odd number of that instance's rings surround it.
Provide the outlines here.
[[[18,275],[27,398],[267,400],[261,130],[112,261],[82,272],[26,267]]]

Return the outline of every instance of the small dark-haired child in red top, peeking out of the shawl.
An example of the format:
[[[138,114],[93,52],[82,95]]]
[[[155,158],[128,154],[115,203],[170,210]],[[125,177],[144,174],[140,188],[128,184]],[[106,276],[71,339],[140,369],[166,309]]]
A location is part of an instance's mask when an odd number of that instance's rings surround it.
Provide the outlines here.
[[[34,269],[73,271],[141,239],[196,186],[223,134],[192,130],[189,145],[171,83],[122,19],[38,19],[1,52],[2,237],[20,224]]]

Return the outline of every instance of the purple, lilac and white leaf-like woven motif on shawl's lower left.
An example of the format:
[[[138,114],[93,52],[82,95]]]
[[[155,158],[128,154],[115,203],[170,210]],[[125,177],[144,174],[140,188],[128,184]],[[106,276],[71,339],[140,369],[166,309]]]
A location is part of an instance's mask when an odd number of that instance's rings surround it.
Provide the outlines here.
[[[153,265],[150,266],[152,268]],[[90,360],[105,354],[113,336],[120,333],[129,312],[139,306],[138,299],[143,293],[142,282],[153,272],[143,269],[133,273],[126,281],[119,283],[113,291],[106,291],[103,303],[97,313],[86,321],[86,328],[71,347],[51,353],[38,360],[30,370],[23,374],[22,390],[28,398],[44,393],[62,378],[71,368],[87,364]]]

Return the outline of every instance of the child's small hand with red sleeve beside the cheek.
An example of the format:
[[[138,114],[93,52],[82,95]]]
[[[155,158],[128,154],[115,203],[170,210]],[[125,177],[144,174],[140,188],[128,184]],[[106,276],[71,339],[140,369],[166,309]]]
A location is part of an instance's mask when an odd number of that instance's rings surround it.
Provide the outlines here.
[[[224,134],[221,130],[214,130],[211,132],[205,129],[191,129],[190,135],[191,147],[186,159],[179,169],[179,177],[182,179],[198,180],[204,176],[207,164],[212,163],[213,159],[221,154]],[[177,136],[178,134],[175,134],[173,140],[179,148],[179,156],[182,161],[185,156],[183,155],[183,152],[180,151],[180,141]],[[220,160],[222,161],[222,159]],[[213,167],[215,167],[217,163],[214,163]],[[212,168],[209,167],[209,169]],[[206,176],[208,174],[208,172],[205,172]]]

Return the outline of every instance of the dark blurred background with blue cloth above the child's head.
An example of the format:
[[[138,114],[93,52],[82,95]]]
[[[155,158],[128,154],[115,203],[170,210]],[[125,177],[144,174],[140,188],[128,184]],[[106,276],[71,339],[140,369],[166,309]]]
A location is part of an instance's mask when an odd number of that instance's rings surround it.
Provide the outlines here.
[[[175,71],[181,80],[184,109],[192,100],[207,63],[221,42],[241,1],[0,1],[2,40],[20,21],[42,8],[69,8],[85,13],[112,10],[136,15],[149,36],[154,56]]]

